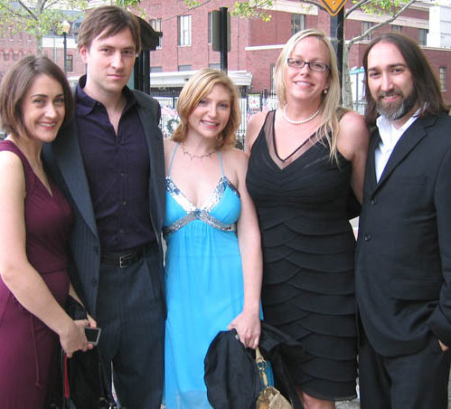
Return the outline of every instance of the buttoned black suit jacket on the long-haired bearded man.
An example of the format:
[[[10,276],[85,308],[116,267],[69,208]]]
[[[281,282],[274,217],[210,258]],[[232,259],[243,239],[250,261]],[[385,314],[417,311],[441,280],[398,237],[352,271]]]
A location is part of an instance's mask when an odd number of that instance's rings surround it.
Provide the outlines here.
[[[371,135],[356,253],[356,297],[382,356],[431,337],[451,346],[451,118],[417,119],[376,182]]]

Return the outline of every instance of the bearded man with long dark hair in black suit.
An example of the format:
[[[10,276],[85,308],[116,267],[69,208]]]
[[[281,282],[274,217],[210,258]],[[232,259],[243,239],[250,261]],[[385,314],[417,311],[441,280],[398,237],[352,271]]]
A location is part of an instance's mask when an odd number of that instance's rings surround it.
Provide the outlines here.
[[[371,133],[356,254],[362,409],[446,409],[451,346],[451,118],[418,44],[363,57]]]

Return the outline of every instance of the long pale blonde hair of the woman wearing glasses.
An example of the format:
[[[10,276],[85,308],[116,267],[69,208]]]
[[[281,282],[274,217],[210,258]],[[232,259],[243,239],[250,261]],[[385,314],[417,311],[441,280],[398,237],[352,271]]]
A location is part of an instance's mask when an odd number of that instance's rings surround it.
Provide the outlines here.
[[[320,113],[322,117],[322,122],[317,131],[317,137],[326,138],[327,143],[330,147],[330,156],[336,160],[337,158],[337,137],[338,137],[338,117],[337,110],[340,106],[340,80],[338,77],[337,61],[335,57],[334,47],[330,40],[325,36],[322,31],[315,29],[303,30],[295,35],[293,35],[284,48],[280,52],[277,62],[276,69],[274,72],[274,82],[276,85],[277,99],[280,107],[284,107],[287,104],[287,69],[288,63],[287,59],[296,47],[296,44],[307,37],[315,37],[322,41],[327,47],[329,54],[329,88],[326,94],[322,94]]]

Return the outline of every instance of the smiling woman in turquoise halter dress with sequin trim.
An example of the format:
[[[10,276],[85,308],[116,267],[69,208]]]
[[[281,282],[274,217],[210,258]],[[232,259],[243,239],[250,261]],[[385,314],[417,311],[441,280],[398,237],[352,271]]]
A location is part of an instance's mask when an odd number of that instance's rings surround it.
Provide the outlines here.
[[[203,360],[219,331],[258,346],[262,259],[246,188],[247,157],[234,148],[239,93],[221,71],[186,83],[181,123],[164,141],[167,320],[166,409],[211,408]]]

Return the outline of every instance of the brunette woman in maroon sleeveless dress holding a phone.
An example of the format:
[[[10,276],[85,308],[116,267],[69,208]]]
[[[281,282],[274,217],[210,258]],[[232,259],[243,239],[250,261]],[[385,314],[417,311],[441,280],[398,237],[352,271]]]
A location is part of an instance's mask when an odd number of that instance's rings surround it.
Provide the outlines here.
[[[0,87],[0,396],[2,407],[43,408],[58,338],[71,357],[87,350],[84,327],[61,307],[74,296],[66,270],[70,206],[45,174],[41,150],[70,115],[60,68],[45,57],[17,62]]]

